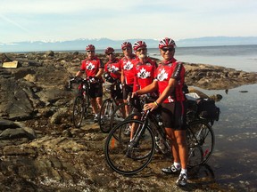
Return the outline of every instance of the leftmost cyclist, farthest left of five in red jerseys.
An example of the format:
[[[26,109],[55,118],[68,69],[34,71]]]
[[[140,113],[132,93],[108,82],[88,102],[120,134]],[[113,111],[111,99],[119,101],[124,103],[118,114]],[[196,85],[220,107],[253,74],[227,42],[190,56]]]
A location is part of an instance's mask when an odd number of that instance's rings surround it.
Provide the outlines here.
[[[88,44],[86,47],[87,59],[81,61],[81,67],[76,76],[86,75],[90,81],[90,102],[95,113],[94,122],[98,122],[99,110],[103,101],[103,79],[104,63],[95,56],[95,46]]]

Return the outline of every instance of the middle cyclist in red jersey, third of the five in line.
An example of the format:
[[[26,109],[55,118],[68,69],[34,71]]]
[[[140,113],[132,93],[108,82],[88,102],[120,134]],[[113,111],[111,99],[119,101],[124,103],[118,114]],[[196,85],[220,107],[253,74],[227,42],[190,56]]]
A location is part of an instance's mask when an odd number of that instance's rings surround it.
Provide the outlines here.
[[[121,76],[120,81],[122,85],[123,100],[127,101],[129,92],[133,91],[134,84],[134,60],[136,55],[132,52],[132,44],[124,42],[121,44],[121,49],[124,57],[120,59]],[[125,106],[126,116],[129,115],[129,106]]]

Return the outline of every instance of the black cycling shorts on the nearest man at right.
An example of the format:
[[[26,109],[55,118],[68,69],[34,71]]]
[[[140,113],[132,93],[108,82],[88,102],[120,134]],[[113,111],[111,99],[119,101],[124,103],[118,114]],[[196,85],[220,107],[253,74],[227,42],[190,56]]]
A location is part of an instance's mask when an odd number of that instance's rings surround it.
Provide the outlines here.
[[[162,103],[162,122],[164,127],[173,130],[186,130],[186,105],[185,101]]]

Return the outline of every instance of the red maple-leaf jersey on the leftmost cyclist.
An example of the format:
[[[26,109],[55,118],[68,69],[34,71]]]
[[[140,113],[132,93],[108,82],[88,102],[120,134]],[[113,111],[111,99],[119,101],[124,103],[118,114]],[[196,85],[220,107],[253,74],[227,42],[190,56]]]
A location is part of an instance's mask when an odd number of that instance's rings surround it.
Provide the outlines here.
[[[93,58],[92,60],[87,58],[86,60],[81,61],[80,71],[85,71],[87,78],[90,76],[95,76],[99,68],[104,68],[104,63],[97,57]]]

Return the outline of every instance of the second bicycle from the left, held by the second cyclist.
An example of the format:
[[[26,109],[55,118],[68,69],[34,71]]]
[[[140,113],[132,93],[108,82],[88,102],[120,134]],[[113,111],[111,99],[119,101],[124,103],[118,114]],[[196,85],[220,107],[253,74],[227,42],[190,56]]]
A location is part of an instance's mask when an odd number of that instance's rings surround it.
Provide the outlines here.
[[[105,92],[111,94],[111,96],[103,101],[103,104],[100,108],[101,116],[104,116],[104,119],[99,119],[100,130],[104,133],[110,132],[113,124],[119,124],[125,119],[125,105],[127,103],[120,103],[117,100],[115,94],[112,94],[112,91],[117,90],[117,86],[120,85],[120,80],[116,79],[112,83],[105,82],[104,89]]]

